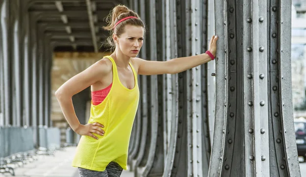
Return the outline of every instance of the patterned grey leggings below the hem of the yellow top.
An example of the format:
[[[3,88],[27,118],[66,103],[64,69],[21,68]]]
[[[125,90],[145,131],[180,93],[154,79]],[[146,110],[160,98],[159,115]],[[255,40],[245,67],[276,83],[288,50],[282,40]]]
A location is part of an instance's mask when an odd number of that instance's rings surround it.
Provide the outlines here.
[[[78,168],[80,177],[119,177],[123,168],[116,162],[108,164],[104,171],[93,171],[85,168]]]

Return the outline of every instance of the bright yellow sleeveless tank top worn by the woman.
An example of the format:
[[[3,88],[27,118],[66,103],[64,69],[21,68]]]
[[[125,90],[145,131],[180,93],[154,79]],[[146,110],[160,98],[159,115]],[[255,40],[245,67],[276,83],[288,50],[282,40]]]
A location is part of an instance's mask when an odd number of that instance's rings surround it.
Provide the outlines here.
[[[96,106],[91,104],[88,121],[88,123],[103,124],[105,134],[104,136],[94,134],[99,139],[82,136],[72,166],[104,171],[113,161],[126,170],[130,136],[139,103],[137,73],[129,63],[134,73],[135,87],[126,88],[119,80],[114,59],[106,57],[113,63],[113,84],[102,103]]]

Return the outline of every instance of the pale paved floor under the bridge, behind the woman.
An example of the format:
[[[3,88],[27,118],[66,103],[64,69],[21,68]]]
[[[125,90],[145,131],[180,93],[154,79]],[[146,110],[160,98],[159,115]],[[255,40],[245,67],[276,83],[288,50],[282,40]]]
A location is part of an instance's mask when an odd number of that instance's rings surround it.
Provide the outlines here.
[[[57,151],[55,156],[39,156],[35,162],[19,167],[15,170],[16,177],[79,177],[77,168],[71,167],[75,147],[66,147]],[[300,159],[302,161],[302,159]],[[301,177],[306,177],[306,162],[300,163]],[[9,173],[2,176],[11,176]],[[121,177],[134,177],[133,172],[123,171]]]

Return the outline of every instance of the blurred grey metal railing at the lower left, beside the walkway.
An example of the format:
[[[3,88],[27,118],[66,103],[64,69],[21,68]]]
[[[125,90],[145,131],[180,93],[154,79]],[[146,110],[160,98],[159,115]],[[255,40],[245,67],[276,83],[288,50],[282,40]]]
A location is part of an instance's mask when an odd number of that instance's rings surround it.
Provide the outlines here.
[[[37,160],[39,155],[54,155],[60,148],[58,128],[0,127],[0,173],[15,175],[16,168]]]

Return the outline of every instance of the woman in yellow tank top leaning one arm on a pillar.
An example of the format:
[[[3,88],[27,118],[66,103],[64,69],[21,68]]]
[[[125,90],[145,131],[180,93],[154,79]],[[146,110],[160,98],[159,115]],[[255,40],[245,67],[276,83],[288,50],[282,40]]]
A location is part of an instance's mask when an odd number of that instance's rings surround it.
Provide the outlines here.
[[[136,56],[145,25],[137,13],[116,6],[109,15],[109,42],[114,52],[64,83],[57,91],[63,114],[72,130],[82,135],[72,166],[80,176],[120,176],[127,169],[127,152],[139,102],[137,74],[175,74],[214,59],[217,36],[205,54],[169,61],[146,61]],[[88,124],[80,124],[71,97],[91,86]]]

